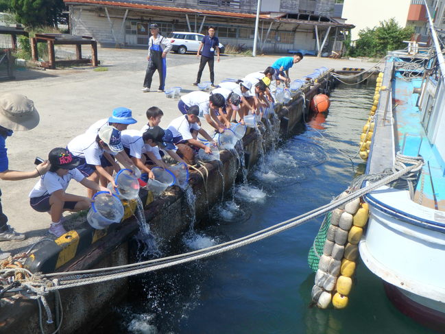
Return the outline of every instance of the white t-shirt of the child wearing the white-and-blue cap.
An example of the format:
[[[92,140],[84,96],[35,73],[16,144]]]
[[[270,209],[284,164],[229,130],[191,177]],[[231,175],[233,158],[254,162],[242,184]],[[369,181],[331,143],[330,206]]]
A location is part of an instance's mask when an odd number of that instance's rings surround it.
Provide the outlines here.
[[[71,140],[67,147],[73,156],[84,158],[88,165],[99,166],[104,150],[96,142],[97,133],[85,132]]]

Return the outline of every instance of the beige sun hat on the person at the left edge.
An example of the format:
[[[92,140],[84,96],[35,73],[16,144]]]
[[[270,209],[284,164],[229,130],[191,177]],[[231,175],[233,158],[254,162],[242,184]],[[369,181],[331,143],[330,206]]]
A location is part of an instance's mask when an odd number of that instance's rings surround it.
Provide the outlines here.
[[[8,130],[25,131],[36,128],[40,117],[34,102],[25,95],[0,95],[0,126]]]

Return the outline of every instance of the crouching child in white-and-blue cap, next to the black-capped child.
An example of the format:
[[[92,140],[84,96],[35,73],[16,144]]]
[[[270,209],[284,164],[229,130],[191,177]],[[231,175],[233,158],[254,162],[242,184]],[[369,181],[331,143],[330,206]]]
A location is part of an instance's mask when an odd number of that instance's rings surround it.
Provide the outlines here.
[[[116,187],[115,179],[108,171],[101,165],[101,156],[105,151],[108,153],[119,153],[123,151],[121,143],[121,132],[114,126],[102,126],[98,134],[84,133],[75,137],[68,143],[67,149],[73,156],[76,156],[80,160],[80,165],[77,169],[88,180],[93,182],[99,182],[99,176],[103,176],[108,182],[111,182],[113,187]],[[127,156],[125,154],[125,156]],[[130,158],[125,158],[123,154],[116,156],[122,165],[126,167],[132,167]],[[128,160],[127,160],[128,159]],[[119,166],[117,168],[120,169]],[[107,183],[108,183],[107,182]],[[105,186],[104,186],[105,187]],[[93,197],[95,191],[88,189],[88,196]]]

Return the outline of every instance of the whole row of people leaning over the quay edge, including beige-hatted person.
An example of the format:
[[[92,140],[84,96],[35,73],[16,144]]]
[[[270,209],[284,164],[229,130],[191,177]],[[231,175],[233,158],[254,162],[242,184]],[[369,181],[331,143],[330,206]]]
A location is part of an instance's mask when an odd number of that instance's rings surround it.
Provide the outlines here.
[[[221,82],[211,93],[194,91],[183,95],[178,102],[180,114],[165,129],[159,126],[163,111],[156,106],[147,110],[147,123],[141,130],[127,130],[136,123],[132,110],[115,108],[111,117],[93,123],[66,147],[51,150],[48,160],[42,160],[32,172],[8,169],[5,139],[12,130],[34,128],[38,123],[37,110],[23,95],[1,95],[0,178],[23,180],[40,176],[29,193],[29,203],[34,210],[51,215],[49,232],[60,237],[67,232],[62,225],[62,213],[87,209],[97,191],[108,191],[109,184],[116,187],[113,174],[121,166],[135,172],[139,169],[148,178],[154,178],[154,165],[169,168],[165,154],[188,165],[195,164],[197,150],[210,154],[217,143],[201,127],[200,117],[220,133],[230,128],[231,122],[243,124],[246,115],[256,113],[261,117],[263,110],[274,102],[276,86],[280,82],[289,84],[289,68],[302,57],[297,53],[280,58],[265,71],[250,73],[237,82]],[[197,139],[198,134],[208,141],[207,145]],[[87,188],[86,197],[66,192],[71,179]],[[0,204],[0,241],[25,239],[6,222]]]

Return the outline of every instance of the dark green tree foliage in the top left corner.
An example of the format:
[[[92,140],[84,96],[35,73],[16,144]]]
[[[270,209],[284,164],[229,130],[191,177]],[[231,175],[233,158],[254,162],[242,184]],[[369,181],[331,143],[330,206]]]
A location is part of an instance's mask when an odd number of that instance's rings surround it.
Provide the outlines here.
[[[5,0],[0,0],[5,1]],[[64,8],[63,0],[6,0],[16,20],[28,27],[57,24],[57,17]]]

